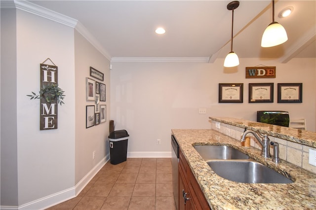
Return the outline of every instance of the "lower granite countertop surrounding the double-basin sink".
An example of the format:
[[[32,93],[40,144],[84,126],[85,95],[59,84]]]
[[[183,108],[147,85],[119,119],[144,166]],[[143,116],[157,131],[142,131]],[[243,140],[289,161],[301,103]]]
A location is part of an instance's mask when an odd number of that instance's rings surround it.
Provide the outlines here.
[[[272,162],[260,150],[244,148],[240,142],[211,129],[173,129],[173,135],[213,210],[316,209],[316,175],[293,164]],[[193,145],[228,145],[250,158],[291,177],[290,184],[248,184],[216,175]]]

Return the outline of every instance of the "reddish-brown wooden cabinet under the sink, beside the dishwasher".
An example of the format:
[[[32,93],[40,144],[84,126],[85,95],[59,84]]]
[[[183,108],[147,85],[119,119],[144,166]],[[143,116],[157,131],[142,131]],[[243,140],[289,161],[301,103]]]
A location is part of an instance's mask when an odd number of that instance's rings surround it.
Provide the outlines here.
[[[179,210],[210,210],[181,150],[179,153]]]

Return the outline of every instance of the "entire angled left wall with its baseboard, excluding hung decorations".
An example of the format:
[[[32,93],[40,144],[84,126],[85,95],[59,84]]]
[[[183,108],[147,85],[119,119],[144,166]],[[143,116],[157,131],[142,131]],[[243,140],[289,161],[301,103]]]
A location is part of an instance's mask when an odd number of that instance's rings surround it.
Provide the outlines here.
[[[40,131],[40,101],[26,95],[40,90],[47,58],[66,97],[58,129]],[[85,96],[90,66],[104,73],[108,116],[86,129],[85,107],[94,105]],[[109,159],[109,61],[74,28],[1,8],[1,102],[1,209],[43,209],[72,198]]]

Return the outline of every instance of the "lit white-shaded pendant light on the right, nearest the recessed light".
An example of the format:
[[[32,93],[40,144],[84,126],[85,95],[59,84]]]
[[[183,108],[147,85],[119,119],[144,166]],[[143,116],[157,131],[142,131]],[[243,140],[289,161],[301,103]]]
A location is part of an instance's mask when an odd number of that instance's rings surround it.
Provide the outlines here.
[[[262,35],[261,46],[273,47],[287,41],[287,34],[284,27],[275,22],[275,1],[272,0],[272,23],[266,28]]]

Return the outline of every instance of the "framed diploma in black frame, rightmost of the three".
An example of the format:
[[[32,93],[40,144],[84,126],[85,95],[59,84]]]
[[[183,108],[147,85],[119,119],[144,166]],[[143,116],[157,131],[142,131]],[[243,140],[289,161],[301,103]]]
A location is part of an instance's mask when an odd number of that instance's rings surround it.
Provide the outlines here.
[[[302,103],[302,83],[277,83],[277,103]]]

